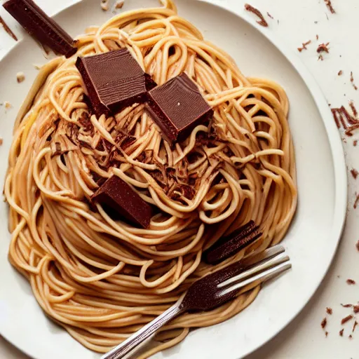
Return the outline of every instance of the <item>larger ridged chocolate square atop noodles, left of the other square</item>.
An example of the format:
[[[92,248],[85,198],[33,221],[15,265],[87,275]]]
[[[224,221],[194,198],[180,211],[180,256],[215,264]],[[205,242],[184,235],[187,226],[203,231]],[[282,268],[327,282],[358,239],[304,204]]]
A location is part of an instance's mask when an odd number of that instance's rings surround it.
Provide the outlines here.
[[[156,86],[127,48],[78,57],[76,67],[97,117],[146,102],[147,91]]]

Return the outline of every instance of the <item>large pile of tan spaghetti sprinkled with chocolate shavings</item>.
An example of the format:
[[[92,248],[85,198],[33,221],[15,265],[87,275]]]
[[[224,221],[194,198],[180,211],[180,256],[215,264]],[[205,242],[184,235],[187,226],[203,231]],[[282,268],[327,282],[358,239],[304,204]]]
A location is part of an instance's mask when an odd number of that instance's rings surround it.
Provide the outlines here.
[[[45,65],[18,114],[9,156],[11,264],[47,316],[102,353],[196,279],[280,242],[297,205],[284,90],[243,76],[171,0],[162,3],[88,28],[76,55]],[[171,147],[142,104],[113,117],[92,115],[76,57],[125,46],[160,85],[186,72],[213,107],[212,120]],[[149,229],[91,203],[111,175],[158,208]],[[203,250],[250,219],[263,233],[257,243],[216,266],[201,262]],[[139,358],[177,344],[191,328],[235,316],[258,292],[243,290],[219,309],[180,316]]]

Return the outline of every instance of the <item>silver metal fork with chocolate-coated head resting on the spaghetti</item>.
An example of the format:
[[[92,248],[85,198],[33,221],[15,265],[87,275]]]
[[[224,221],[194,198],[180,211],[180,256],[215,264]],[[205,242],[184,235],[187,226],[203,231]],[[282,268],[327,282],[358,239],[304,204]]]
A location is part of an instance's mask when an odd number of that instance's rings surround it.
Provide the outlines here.
[[[101,359],[129,358],[138,350],[140,344],[151,338],[163,325],[187,311],[208,311],[236,297],[239,290],[255,287],[260,283],[275,278],[280,273],[290,269],[290,258],[282,255],[285,249],[282,245],[263,252],[249,255],[241,262],[236,262],[226,268],[210,273],[208,276],[194,282],[187,293],[176,304],[158,316],[151,323],[142,327],[131,337],[102,355]]]

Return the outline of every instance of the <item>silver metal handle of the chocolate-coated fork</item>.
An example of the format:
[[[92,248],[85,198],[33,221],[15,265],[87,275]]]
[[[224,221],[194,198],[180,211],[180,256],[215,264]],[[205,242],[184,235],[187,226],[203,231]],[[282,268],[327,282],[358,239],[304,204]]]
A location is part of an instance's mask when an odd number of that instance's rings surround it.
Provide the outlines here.
[[[149,324],[142,327],[141,330],[135,332],[128,339],[123,341],[108,353],[102,355],[101,359],[122,359],[125,355],[135,352],[135,349],[140,346],[146,339],[149,339],[158,329],[167,324],[170,320],[178,316],[184,311],[184,308],[177,302],[171,306],[167,311],[163,312],[161,316],[158,316],[152,320]]]

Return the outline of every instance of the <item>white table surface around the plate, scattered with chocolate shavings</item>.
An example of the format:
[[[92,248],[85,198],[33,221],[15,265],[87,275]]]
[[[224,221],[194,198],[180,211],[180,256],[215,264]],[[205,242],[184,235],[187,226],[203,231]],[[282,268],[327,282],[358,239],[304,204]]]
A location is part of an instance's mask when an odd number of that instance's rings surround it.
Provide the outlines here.
[[[257,20],[254,15],[244,11],[245,0],[208,1],[230,6],[252,21]],[[324,0],[248,1],[252,6],[256,6],[262,11],[276,36],[289,48],[297,52],[316,77],[332,107],[340,107],[342,104],[348,107],[348,101],[353,100],[358,105],[359,110],[359,90],[355,90],[350,81],[352,71],[354,80],[359,86],[358,0],[332,0],[332,5],[337,11],[336,14],[331,14],[328,11]],[[36,2],[47,13],[53,14],[76,2],[76,0],[36,0]],[[268,18],[267,11],[273,16],[274,20]],[[6,18],[8,25],[15,26],[15,21],[11,20],[2,9],[0,15]],[[318,41],[316,40],[317,34],[319,36]],[[307,46],[308,50],[299,53],[297,48],[309,40],[312,43]],[[316,53],[318,44],[327,42],[330,42],[330,53],[325,53],[323,55],[324,60],[318,61],[318,54]],[[0,58],[14,44],[15,41],[3,29],[0,29]],[[337,75],[339,70],[343,71],[341,76]],[[346,151],[348,170],[351,168],[359,170],[359,156],[355,158],[355,154],[358,154],[359,144],[358,147],[353,147],[353,140],[356,138],[359,140],[359,130],[354,133],[353,137],[346,137],[345,135],[342,137],[346,139],[343,141],[343,145]],[[351,175],[348,178],[346,228],[329,273],[314,297],[294,322],[288,325],[276,338],[250,355],[248,359],[359,359],[359,326],[353,333],[353,339],[349,339],[348,335],[351,334],[353,320],[343,326],[340,323],[341,318],[350,314],[350,309],[344,309],[340,304],[359,301],[359,251],[355,248],[355,243],[359,240],[359,208],[357,210],[353,208],[359,177],[358,182],[355,182]],[[357,284],[346,284],[348,278],[356,280]],[[332,316],[325,313],[327,306],[332,308]],[[327,317],[327,327],[325,328],[328,332],[327,338],[320,326],[325,316]],[[339,330],[342,327],[344,327],[344,336],[339,337]],[[26,359],[27,356],[0,337],[0,358]]]

